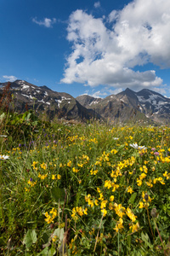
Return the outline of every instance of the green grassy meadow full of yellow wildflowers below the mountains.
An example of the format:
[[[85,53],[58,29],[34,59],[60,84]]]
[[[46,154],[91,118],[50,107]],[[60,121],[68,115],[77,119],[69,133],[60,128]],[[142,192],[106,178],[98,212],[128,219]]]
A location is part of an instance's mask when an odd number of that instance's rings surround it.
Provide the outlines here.
[[[170,255],[167,126],[3,114],[0,147],[0,255]]]

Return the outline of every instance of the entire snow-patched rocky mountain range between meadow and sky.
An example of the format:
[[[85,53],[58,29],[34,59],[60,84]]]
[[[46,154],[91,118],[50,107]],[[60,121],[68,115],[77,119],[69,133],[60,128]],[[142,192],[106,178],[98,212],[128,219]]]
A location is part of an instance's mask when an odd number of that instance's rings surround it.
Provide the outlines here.
[[[7,83],[0,83],[0,98]],[[65,92],[50,90],[24,80],[10,84],[13,101],[10,108],[18,113],[34,109],[41,119],[87,120],[100,119],[125,123],[129,120],[170,123],[170,99],[148,89],[134,92],[126,89],[116,95],[94,98],[82,95],[74,98]]]

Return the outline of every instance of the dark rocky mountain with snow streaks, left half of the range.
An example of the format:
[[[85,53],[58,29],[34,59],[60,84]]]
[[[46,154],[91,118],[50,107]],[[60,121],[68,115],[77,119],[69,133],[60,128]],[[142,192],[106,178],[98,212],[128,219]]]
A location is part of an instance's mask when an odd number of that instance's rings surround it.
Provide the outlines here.
[[[0,84],[3,93],[4,86]],[[65,93],[50,90],[47,86],[36,86],[24,80],[16,80],[10,84],[13,103],[10,108],[21,113],[27,109],[34,109],[40,118],[52,119],[101,119],[98,113],[83,107],[77,100]]]

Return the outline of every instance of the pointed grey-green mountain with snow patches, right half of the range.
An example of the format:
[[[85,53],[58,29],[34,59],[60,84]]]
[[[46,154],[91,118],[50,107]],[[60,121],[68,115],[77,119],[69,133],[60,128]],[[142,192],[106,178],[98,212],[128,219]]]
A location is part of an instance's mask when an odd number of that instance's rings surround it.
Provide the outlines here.
[[[82,105],[86,102],[86,108],[95,109],[105,119],[119,119],[122,122],[129,119],[143,119],[161,124],[170,122],[170,99],[152,90],[134,92],[126,89],[117,95],[107,96],[98,101],[93,97],[91,100],[89,96],[87,97],[88,101],[85,96],[83,99],[77,97],[77,101]]]

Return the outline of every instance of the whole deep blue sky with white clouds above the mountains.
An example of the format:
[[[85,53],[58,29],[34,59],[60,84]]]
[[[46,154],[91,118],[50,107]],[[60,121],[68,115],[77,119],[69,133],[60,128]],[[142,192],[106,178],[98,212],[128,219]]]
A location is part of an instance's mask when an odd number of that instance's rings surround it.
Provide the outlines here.
[[[170,2],[0,0],[0,82],[105,97],[170,97]]]

